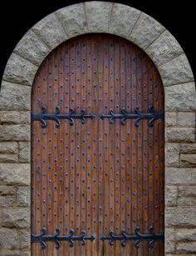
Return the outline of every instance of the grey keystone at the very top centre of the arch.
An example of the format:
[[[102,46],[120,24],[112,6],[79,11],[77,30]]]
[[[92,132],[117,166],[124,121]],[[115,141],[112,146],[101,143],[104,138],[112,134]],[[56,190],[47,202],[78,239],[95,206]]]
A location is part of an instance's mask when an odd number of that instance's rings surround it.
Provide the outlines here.
[[[90,33],[105,33],[109,31],[112,3],[86,2],[86,20]]]

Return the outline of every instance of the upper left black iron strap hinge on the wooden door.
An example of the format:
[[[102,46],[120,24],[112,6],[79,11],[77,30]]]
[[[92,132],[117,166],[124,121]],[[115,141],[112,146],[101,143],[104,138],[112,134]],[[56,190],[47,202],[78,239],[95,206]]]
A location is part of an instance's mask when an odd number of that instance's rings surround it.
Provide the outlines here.
[[[86,118],[95,118],[93,113],[87,114],[85,109],[81,110],[81,113],[75,113],[74,108],[70,108],[70,113],[60,113],[61,108],[56,106],[56,113],[47,113],[47,107],[42,106],[42,113],[32,113],[33,121],[40,121],[42,128],[47,127],[46,120],[54,120],[56,122],[56,128],[61,125],[61,119],[68,119],[70,125],[74,124],[74,119],[81,119],[81,123],[86,123]]]

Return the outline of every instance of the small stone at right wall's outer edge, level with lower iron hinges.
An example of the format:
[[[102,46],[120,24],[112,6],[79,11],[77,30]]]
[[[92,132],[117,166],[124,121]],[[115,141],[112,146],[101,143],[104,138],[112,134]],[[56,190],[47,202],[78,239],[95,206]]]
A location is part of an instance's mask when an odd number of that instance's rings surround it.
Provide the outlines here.
[[[175,230],[176,241],[196,241],[196,228],[179,228]]]

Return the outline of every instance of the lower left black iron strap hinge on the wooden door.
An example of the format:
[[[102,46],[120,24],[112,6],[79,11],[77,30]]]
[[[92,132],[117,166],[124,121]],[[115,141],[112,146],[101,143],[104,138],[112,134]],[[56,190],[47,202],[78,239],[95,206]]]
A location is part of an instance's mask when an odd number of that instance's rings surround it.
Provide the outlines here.
[[[51,241],[53,243],[56,243],[56,249],[59,249],[61,247],[60,241],[68,241],[70,244],[70,247],[74,246],[74,241],[81,241],[81,245],[86,245],[86,240],[93,241],[95,239],[95,236],[91,235],[91,237],[86,237],[86,231],[81,231],[80,236],[74,235],[74,230],[70,229],[69,235],[60,235],[60,228],[56,228],[55,234],[46,234],[47,228],[42,228],[41,234],[32,234],[32,243],[40,243],[42,246],[42,249],[47,248],[48,241]]]

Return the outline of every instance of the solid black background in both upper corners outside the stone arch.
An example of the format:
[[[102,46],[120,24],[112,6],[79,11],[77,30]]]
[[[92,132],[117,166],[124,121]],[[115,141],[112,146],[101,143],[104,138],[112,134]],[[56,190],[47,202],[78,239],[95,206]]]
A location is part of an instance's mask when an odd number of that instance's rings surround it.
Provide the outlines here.
[[[2,73],[10,54],[27,30],[32,28],[35,23],[47,16],[47,14],[73,3],[81,3],[81,1],[54,0],[51,3],[48,1],[43,3],[42,1],[24,2],[18,0],[15,2],[2,1],[0,3],[0,81],[2,80]],[[137,8],[164,25],[184,49],[195,77],[196,14],[194,1],[149,0],[144,2],[132,0],[117,1],[117,3],[124,3]]]

